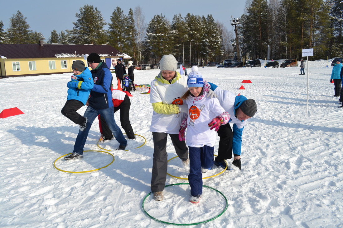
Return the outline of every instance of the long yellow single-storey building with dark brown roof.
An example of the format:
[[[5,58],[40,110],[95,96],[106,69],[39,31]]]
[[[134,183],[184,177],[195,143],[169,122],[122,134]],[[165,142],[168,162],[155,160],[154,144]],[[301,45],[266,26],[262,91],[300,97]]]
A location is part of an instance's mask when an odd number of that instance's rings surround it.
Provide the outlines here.
[[[87,55],[98,53],[109,69],[111,60],[131,58],[109,45],[0,44],[0,77],[62,74],[72,72],[76,60],[86,64]]]

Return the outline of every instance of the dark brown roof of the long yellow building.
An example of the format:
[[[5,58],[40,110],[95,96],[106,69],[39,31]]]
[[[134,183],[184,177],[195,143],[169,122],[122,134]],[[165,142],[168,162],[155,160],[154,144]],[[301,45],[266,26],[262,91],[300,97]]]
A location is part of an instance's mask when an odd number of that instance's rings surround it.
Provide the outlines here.
[[[100,56],[125,56],[110,45],[0,44],[0,58],[66,58],[98,53]]]

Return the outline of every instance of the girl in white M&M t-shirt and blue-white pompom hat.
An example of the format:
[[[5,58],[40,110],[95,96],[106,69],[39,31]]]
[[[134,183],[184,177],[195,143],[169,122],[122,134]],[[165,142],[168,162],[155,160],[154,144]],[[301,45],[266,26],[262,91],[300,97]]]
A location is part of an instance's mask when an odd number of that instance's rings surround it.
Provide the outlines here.
[[[207,98],[210,85],[203,80],[198,67],[193,66],[187,79],[189,90],[181,97],[188,105],[188,115],[183,119],[180,141],[186,140],[189,149],[189,175],[191,187],[190,202],[198,203],[202,194],[202,174],[214,165],[213,151],[217,131],[222,124],[228,123],[230,114],[220,106],[218,99]],[[185,137],[185,130],[187,134]]]

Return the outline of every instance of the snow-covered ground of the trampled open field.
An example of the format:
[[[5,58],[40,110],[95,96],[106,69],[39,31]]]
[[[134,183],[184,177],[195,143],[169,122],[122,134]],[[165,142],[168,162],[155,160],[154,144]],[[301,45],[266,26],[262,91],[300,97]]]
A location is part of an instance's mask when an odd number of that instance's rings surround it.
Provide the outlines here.
[[[332,97],[332,67],[326,60],[309,65],[308,113],[307,68],[306,75],[299,75],[299,67],[199,68],[207,81],[255,99],[258,112],[243,131],[242,169],[204,179],[204,185],[226,197],[227,210],[193,227],[342,227],[343,110]],[[135,70],[135,83],[150,84],[158,72]],[[18,107],[25,113],[0,119],[0,227],[172,227],[142,210],[153,154],[149,95],[135,91],[130,98],[131,124],[135,134],[145,137],[144,146],[134,149],[144,143],[141,137],[129,140],[128,151],[109,151],[115,161],[95,172],[54,168],[58,157],[72,152],[79,130],[60,113],[70,75],[0,79],[0,111]],[[239,90],[241,85],[245,90]],[[119,112],[115,119],[120,125]],[[85,150],[100,150],[99,136],[95,122]],[[118,143],[100,146],[113,150]],[[176,156],[170,139],[167,150],[169,159]],[[85,152],[84,159],[60,159],[56,166],[77,172],[112,160],[107,153]],[[181,160],[169,163],[171,175],[187,177]],[[167,176],[167,185],[175,183],[187,180]],[[204,188],[194,205],[188,202],[188,185],[166,187],[164,201],[150,195],[144,208],[168,223],[198,223],[225,208],[225,198],[211,188]]]

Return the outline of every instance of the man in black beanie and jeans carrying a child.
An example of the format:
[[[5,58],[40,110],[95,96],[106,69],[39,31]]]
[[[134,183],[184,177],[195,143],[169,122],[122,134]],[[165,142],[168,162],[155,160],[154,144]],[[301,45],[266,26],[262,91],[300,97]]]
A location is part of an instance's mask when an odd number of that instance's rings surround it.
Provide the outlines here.
[[[78,159],[83,157],[83,148],[87,140],[88,132],[91,129],[94,119],[101,115],[104,117],[112,134],[119,142],[118,150],[125,150],[127,141],[117,126],[113,115],[113,103],[111,97],[111,84],[112,74],[107,65],[100,60],[100,56],[96,53],[88,55],[87,62],[92,68],[92,78],[94,82],[93,89],[91,90],[90,98],[86,105],[88,105],[84,117],[86,118],[86,129],[79,131],[74,144],[73,153],[64,157],[65,160]]]

